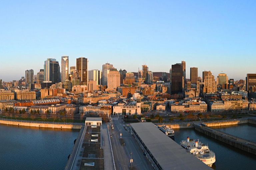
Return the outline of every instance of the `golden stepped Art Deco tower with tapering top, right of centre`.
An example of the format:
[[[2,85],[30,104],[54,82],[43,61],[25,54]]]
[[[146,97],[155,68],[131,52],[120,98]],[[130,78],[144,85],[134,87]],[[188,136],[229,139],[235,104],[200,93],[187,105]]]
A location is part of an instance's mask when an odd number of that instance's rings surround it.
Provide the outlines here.
[[[203,93],[215,93],[217,91],[217,84],[211,71],[204,77]]]

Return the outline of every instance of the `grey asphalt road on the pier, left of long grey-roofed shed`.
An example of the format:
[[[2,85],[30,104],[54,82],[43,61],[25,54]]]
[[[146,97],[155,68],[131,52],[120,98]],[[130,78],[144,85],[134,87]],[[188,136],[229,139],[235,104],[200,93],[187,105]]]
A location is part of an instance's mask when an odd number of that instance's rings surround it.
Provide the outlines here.
[[[146,156],[143,155],[143,151],[141,150],[139,144],[129,133],[130,128],[127,127],[127,130],[124,129],[123,125],[126,126],[126,124],[122,123],[122,119],[112,116],[111,123],[114,126],[114,130],[110,130],[110,135],[112,135],[111,144],[116,169],[129,170],[132,152],[132,166],[135,167],[135,169],[153,170],[154,168],[151,166]],[[125,146],[122,146],[120,143],[120,131],[122,131],[122,138],[125,141]]]

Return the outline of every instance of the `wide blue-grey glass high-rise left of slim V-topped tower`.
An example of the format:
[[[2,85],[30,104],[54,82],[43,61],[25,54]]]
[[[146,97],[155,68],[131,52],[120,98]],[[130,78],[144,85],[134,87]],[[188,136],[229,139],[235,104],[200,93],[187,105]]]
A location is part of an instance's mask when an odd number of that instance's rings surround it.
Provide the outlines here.
[[[44,81],[52,83],[60,82],[60,65],[54,58],[47,58],[44,61]]]

